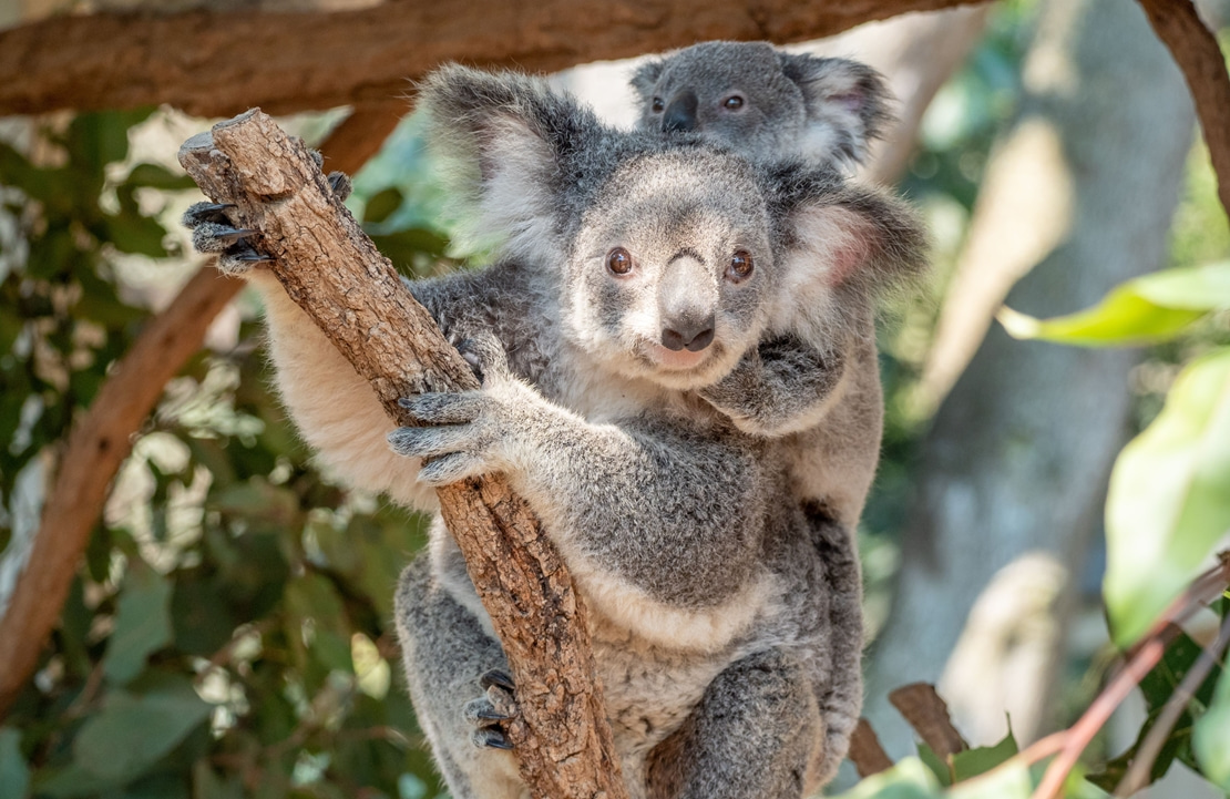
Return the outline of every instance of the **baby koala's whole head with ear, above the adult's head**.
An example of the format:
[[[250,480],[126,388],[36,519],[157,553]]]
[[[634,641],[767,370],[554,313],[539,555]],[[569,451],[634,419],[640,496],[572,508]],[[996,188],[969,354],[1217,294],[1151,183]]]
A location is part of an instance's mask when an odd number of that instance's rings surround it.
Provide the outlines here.
[[[892,119],[876,70],[784,53],[766,42],[705,42],[632,75],[640,128],[699,132],[758,157],[861,162]]]

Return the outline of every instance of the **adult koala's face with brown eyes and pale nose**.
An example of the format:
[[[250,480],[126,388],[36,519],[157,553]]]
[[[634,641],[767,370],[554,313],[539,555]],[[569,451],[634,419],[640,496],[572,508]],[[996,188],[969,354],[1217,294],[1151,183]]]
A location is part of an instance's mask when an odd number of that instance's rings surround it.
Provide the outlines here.
[[[566,269],[565,334],[594,360],[668,388],[712,384],[765,325],[774,253],[763,193],[723,152],[642,155],[598,192]]]

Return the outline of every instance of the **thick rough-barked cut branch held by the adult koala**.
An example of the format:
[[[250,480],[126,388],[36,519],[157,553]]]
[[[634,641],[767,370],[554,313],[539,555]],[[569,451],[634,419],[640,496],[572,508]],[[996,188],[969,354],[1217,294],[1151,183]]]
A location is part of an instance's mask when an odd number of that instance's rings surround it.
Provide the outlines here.
[[[390,417],[412,422],[397,404],[412,393],[477,388],[303,144],[269,117],[253,111],[219,123],[189,139],[180,161],[208,197],[235,203],[239,221],[261,231],[273,274]],[[465,481],[439,498],[518,686],[520,714],[508,734],[533,795],[626,795],[584,605],[555,547],[503,478]]]

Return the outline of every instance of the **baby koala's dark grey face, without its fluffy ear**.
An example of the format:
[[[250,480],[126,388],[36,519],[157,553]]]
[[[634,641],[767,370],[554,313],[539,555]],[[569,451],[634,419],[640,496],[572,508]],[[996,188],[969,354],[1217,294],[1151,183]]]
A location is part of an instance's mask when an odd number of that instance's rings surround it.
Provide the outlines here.
[[[706,42],[633,80],[642,130],[701,132],[744,152],[785,154],[803,134],[803,93],[764,42]]]

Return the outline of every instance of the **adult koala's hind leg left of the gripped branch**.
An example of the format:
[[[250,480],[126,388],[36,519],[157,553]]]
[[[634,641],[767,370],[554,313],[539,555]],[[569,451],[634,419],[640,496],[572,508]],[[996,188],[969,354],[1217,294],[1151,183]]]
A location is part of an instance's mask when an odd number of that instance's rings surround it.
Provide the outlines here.
[[[401,574],[396,616],[415,713],[454,799],[528,799],[498,724],[515,713],[499,643],[426,556]]]

